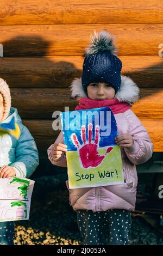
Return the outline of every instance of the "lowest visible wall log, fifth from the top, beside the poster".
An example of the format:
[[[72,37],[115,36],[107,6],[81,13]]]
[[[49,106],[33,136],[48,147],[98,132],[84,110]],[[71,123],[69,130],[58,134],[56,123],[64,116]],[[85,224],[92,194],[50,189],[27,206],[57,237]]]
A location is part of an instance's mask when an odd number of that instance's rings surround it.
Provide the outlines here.
[[[154,151],[163,151],[163,119],[141,119],[143,126],[147,129],[154,144]],[[55,142],[60,131],[52,129],[53,120],[23,120],[35,138],[41,155],[47,155],[47,148]]]

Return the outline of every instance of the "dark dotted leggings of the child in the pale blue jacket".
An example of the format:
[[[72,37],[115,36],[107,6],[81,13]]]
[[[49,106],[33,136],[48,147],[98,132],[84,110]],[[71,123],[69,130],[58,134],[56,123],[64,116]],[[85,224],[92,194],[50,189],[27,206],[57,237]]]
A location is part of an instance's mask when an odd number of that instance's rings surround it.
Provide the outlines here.
[[[13,221],[0,222],[0,245],[14,245]]]

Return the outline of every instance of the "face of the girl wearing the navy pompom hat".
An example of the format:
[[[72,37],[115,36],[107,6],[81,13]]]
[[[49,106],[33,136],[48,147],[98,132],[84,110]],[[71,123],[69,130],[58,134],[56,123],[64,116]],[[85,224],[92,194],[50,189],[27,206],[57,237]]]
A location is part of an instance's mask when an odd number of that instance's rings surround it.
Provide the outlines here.
[[[90,83],[87,86],[87,96],[92,100],[111,100],[115,89],[109,83]]]

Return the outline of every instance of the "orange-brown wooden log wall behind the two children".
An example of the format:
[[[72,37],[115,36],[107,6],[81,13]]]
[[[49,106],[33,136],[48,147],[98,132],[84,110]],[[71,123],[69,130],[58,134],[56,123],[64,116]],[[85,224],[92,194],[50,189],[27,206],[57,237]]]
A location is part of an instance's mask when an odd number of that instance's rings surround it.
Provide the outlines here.
[[[0,6],[0,77],[11,89],[12,106],[32,132],[40,157],[58,136],[52,113],[74,109],[68,87],[82,74],[90,33],[115,35],[122,75],[140,87],[133,111],[163,151],[163,5],[159,0],[4,0]],[[162,44],[162,46],[161,46]],[[162,51],[163,53],[163,51]]]

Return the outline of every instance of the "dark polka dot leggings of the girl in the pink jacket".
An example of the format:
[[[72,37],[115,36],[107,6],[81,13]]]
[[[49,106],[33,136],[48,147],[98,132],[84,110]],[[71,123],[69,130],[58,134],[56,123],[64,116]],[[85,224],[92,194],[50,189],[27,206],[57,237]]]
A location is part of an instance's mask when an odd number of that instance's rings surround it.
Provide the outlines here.
[[[112,209],[108,211],[78,210],[78,227],[82,236],[82,245],[129,245],[131,227],[130,211]]]

